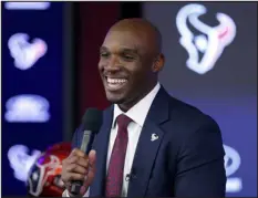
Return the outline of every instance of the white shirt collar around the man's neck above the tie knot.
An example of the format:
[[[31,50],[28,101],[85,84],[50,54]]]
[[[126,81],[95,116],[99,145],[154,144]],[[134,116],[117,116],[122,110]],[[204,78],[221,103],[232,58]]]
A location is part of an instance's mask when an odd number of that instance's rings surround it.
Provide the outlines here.
[[[112,127],[115,127],[116,117],[121,114],[125,114],[126,116],[128,116],[131,119],[133,119],[135,123],[137,123],[140,126],[143,127],[147,113],[159,88],[161,88],[161,84],[157,83],[156,86],[144,98],[142,98],[138,103],[136,103],[126,113],[121,111],[118,105],[115,104]]]

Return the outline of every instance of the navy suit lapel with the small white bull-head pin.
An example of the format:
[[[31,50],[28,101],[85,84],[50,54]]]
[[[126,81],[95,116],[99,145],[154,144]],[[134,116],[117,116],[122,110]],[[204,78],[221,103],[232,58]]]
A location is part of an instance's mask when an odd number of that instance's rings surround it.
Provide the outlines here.
[[[144,123],[134,161],[127,197],[144,197],[153,165],[162,143],[164,132],[161,124],[168,119],[168,96],[162,87],[157,93]]]

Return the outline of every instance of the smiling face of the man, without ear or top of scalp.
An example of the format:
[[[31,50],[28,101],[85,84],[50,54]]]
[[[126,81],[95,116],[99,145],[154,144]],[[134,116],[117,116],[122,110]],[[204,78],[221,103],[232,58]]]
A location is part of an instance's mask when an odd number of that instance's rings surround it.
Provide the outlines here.
[[[110,102],[135,104],[149,87],[153,60],[143,40],[131,31],[116,30],[106,35],[99,70]]]

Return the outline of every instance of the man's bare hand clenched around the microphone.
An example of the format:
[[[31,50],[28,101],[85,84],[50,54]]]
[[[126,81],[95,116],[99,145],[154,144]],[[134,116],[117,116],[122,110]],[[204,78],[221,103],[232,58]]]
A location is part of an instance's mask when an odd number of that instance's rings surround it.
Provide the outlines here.
[[[83,181],[83,186],[80,190],[81,196],[86,192],[95,176],[95,150],[91,150],[89,156],[86,156],[84,152],[78,148],[73,149],[70,156],[63,160],[61,179],[71,197],[73,196],[70,192],[73,180]]]

